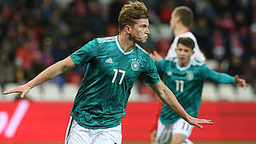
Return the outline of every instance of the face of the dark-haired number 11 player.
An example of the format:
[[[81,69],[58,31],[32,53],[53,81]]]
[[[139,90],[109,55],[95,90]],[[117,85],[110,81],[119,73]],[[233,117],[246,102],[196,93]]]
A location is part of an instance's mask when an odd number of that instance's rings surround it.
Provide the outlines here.
[[[178,57],[179,66],[187,66],[190,63],[190,57],[194,54],[194,51],[187,46],[178,43],[178,47],[175,49]]]

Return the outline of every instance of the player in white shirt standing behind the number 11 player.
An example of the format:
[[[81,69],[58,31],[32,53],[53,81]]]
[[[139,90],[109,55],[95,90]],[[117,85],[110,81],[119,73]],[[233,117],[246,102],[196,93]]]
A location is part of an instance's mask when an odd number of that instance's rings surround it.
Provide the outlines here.
[[[166,58],[175,58],[177,54],[175,49],[177,47],[178,38],[189,37],[194,41],[194,54],[192,58],[197,59],[198,61],[206,63],[206,58],[199,49],[197,39],[194,37],[194,34],[190,32],[190,25],[193,22],[193,12],[187,6],[178,6],[174,9],[170,18],[170,30],[174,33],[174,42],[171,44],[170,49],[166,55]],[[161,55],[158,52],[154,51],[151,54],[151,58],[154,61],[159,61],[162,59]]]

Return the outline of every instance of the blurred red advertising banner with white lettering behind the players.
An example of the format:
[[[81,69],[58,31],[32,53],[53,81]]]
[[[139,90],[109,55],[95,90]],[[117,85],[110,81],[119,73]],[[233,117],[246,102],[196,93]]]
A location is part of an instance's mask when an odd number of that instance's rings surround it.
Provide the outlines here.
[[[0,102],[0,142],[64,142],[72,102]],[[122,119],[123,141],[150,141],[157,102],[129,102]],[[195,142],[255,141],[253,102],[203,102],[199,118],[212,126],[194,128]]]

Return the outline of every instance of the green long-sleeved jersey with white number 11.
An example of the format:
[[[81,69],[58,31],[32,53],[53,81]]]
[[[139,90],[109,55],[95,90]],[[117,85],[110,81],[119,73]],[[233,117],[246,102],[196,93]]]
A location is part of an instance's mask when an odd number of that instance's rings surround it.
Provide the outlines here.
[[[188,114],[198,117],[201,105],[202,86],[206,80],[234,84],[234,77],[210,70],[205,64],[192,59],[186,67],[178,66],[178,58],[155,62],[162,81],[173,91],[178,102]],[[180,117],[162,103],[160,120],[165,125],[176,122]]]

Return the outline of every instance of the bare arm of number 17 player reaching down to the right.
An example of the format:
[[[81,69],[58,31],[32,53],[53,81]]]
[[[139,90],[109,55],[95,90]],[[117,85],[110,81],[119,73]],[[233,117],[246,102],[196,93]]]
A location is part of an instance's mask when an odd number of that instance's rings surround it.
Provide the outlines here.
[[[166,106],[168,106],[171,110],[174,110],[176,114],[181,116],[184,120],[186,120],[186,122],[189,122],[190,125],[202,128],[201,124],[213,124],[213,122],[210,120],[194,118],[187,114],[171,90],[168,89],[168,87],[162,81],[155,84],[150,84],[150,86],[158,94],[158,97],[161,98],[162,102],[166,103]]]

